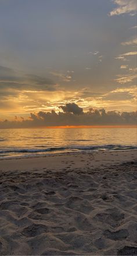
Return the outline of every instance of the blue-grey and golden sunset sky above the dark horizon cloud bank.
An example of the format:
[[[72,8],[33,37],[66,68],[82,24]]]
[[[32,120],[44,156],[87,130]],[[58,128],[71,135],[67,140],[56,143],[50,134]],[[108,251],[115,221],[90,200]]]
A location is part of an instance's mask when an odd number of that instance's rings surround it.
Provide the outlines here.
[[[1,123],[67,104],[135,112],[136,9],[136,0],[0,0]]]

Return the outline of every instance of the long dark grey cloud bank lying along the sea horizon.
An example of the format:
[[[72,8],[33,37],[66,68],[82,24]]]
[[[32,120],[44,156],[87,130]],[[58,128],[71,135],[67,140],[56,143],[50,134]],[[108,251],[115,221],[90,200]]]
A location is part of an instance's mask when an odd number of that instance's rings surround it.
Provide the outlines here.
[[[40,111],[38,113],[31,113],[27,120],[21,118],[21,121],[19,121],[17,118],[14,121],[4,120],[0,122],[0,127],[12,128],[68,125],[136,125],[137,112],[106,112],[105,109],[98,110],[93,108],[90,108],[88,112],[83,112],[82,108],[80,108],[80,110],[78,105],[75,105],[71,104],[68,106],[68,104],[66,104],[64,112],[59,113],[56,113],[55,111]],[[76,109],[76,112],[74,109]],[[79,114],[77,109],[79,109]]]

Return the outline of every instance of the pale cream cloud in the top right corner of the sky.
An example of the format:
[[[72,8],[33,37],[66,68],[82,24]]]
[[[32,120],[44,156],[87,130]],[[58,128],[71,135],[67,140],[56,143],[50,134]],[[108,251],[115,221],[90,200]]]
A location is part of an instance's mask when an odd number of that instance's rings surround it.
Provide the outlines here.
[[[114,0],[113,2],[118,6],[109,13],[110,16],[121,15],[124,13],[129,13],[130,15],[136,14],[136,0]]]

